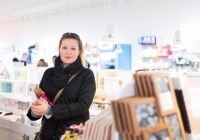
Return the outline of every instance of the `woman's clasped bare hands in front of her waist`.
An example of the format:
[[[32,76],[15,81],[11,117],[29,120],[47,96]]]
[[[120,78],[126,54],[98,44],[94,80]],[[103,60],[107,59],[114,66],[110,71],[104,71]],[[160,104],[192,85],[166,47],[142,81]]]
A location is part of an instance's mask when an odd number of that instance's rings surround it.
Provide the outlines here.
[[[46,115],[48,111],[48,103],[46,100],[40,101],[37,99],[31,106],[33,114],[41,116]]]

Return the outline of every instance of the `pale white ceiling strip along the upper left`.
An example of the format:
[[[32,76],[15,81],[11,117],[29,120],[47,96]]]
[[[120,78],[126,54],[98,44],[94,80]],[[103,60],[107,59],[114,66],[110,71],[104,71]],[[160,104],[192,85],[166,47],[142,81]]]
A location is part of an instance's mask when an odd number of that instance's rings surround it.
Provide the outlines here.
[[[123,0],[110,0],[112,3]],[[22,18],[31,14],[103,5],[109,0],[0,0],[0,19]]]

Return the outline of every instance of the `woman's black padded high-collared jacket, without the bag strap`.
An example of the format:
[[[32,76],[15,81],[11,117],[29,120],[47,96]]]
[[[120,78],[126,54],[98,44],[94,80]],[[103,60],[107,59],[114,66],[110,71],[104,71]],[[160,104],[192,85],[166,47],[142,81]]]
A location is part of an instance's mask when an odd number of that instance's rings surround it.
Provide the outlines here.
[[[78,71],[80,71],[79,74],[67,84],[69,77]],[[72,124],[85,123],[89,119],[89,107],[94,98],[96,84],[93,72],[82,66],[79,57],[64,69],[60,57],[57,57],[55,67],[47,69],[40,82],[40,88],[50,101],[53,101],[57,92],[63,87],[65,89],[51,107],[52,117],[50,119],[44,117],[42,139],[55,136],[56,140],[59,140],[67,127]],[[31,109],[27,116],[31,120],[39,119],[31,116]]]

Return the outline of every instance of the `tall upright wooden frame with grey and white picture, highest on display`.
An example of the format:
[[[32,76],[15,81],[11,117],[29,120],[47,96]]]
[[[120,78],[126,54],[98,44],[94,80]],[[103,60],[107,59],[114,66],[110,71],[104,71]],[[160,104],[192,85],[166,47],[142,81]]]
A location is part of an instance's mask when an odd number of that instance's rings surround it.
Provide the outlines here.
[[[164,72],[152,72],[150,77],[153,85],[153,93],[157,99],[161,116],[176,112],[178,106],[169,74]]]

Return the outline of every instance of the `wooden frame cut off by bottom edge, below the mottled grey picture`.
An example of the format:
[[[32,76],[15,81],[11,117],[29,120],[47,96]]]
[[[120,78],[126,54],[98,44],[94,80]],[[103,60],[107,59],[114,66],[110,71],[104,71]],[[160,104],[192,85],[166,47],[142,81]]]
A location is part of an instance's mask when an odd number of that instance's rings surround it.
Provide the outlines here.
[[[154,126],[142,134],[143,140],[173,140],[168,124]]]

